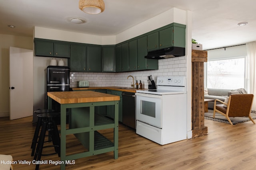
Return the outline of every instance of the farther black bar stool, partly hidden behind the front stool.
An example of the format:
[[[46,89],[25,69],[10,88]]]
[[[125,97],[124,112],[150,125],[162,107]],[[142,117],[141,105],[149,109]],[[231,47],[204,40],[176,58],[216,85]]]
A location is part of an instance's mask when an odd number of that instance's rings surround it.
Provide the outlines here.
[[[34,114],[42,114],[42,113],[51,113],[54,112],[54,110],[52,109],[38,109],[36,111],[34,111]],[[42,117],[38,117],[37,123],[36,123],[36,129],[34,132],[34,137],[32,139],[32,144],[31,144],[31,156],[34,156],[34,152],[36,149],[36,143],[38,143],[38,136],[39,136],[39,131],[40,131],[40,127],[42,126]]]

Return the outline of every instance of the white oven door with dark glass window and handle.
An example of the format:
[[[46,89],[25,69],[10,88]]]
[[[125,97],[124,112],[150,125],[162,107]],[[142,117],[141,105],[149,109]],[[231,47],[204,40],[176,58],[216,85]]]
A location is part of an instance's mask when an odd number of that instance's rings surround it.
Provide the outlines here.
[[[162,128],[162,96],[136,93],[136,120]]]

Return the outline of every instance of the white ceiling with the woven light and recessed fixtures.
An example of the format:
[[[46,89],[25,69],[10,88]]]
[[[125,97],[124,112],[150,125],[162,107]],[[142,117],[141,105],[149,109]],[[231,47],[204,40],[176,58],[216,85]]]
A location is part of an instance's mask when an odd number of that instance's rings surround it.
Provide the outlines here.
[[[179,8],[192,11],[192,38],[203,44],[203,49],[256,41],[255,0],[104,0],[105,11],[96,15],[82,12],[78,2],[0,0],[0,34],[32,37],[34,26],[38,26],[116,35],[171,8]],[[72,18],[84,23],[71,23]],[[237,25],[244,21],[248,25]]]

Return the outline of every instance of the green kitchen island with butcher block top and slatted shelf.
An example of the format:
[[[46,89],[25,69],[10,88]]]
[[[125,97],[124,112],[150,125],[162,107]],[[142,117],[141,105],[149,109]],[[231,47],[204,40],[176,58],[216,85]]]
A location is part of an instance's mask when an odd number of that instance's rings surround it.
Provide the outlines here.
[[[114,151],[118,158],[118,100],[119,96],[93,91],[48,92],[48,108],[52,100],[60,103],[60,160],[61,169],[66,161]],[[114,121],[94,113],[95,106],[114,105]],[[70,109],[69,128],[66,128],[67,109]],[[114,142],[98,133],[102,129],[114,129]],[[83,153],[66,155],[66,135],[74,134],[88,150]],[[68,141],[67,141],[68,142]]]

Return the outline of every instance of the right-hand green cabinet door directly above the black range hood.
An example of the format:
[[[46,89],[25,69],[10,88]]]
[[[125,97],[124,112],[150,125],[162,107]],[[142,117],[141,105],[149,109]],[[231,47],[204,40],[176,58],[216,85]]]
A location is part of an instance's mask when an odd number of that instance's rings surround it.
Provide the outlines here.
[[[159,49],[173,47],[173,27],[159,31]]]

